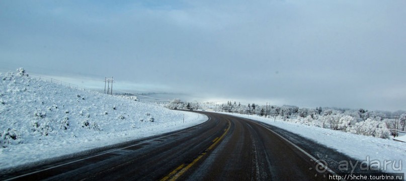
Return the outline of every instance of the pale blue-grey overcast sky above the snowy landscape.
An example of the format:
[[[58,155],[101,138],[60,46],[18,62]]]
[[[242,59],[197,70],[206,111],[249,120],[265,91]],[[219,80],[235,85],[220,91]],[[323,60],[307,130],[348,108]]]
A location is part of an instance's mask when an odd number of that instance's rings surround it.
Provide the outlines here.
[[[0,1],[0,69],[134,92],[406,110],[406,1]],[[72,80],[74,81],[74,80]],[[94,83],[94,82],[93,82]]]

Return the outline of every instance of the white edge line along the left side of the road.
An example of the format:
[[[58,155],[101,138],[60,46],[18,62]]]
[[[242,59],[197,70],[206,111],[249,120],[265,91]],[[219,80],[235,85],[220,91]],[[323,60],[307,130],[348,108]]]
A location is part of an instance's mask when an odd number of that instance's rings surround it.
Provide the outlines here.
[[[211,120],[211,118],[209,117],[209,119],[208,119],[206,122],[208,122],[208,121],[210,121],[210,120]],[[200,125],[200,124],[199,124],[199,125]],[[196,126],[197,126],[197,125],[196,125]],[[75,162],[78,162],[78,161],[86,160],[86,159],[93,158],[93,157],[97,157],[97,156],[104,155],[104,154],[108,154],[108,153],[111,153],[111,152],[114,152],[114,151],[123,150],[123,149],[129,148],[129,147],[132,147],[132,146],[137,146],[137,145],[140,145],[140,144],[143,144],[143,143],[147,143],[147,142],[149,142],[149,141],[153,141],[153,140],[157,140],[157,139],[169,137],[169,136],[172,136],[172,135],[175,135],[175,134],[178,134],[178,133],[182,133],[182,132],[184,132],[184,131],[189,131],[189,130],[195,128],[196,126],[193,126],[193,127],[189,128],[189,129],[186,129],[186,130],[183,130],[183,131],[180,131],[180,132],[176,132],[176,133],[173,133],[173,134],[170,134],[170,135],[160,136],[160,137],[157,137],[157,138],[154,138],[154,139],[150,139],[150,140],[144,140],[144,141],[139,142],[139,143],[137,143],[137,144],[133,144],[133,145],[130,145],[130,146],[126,146],[126,147],[123,147],[123,148],[118,148],[118,149],[110,150],[110,151],[107,151],[107,152],[104,152],[104,153],[100,153],[100,154],[97,154],[97,155],[93,155],[93,156],[90,156],[90,157],[86,157],[86,158],[82,158],[82,159],[70,161],[70,162],[67,162],[67,163],[63,163],[63,164],[60,164],[60,165],[51,166],[51,167],[49,167],[49,168],[45,168],[45,169],[42,169],[42,170],[37,170],[37,171],[30,172],[30,173],[18,175],[18,176],[16,176],[16,177],[12,177],[12,178],[5,179],[4,181],[9,181],[9,180],[21,178],[21,177],[23,177],[23,176],[27,176],[27,175],[39,173],[39,172],[42,172],[42,171],[46,171],[46,170],[49,170],[49,169],[53,169],[53,168],[65,166],[65,165],[68,165],[68,164],[71,164],[71,163],[75,163]]]

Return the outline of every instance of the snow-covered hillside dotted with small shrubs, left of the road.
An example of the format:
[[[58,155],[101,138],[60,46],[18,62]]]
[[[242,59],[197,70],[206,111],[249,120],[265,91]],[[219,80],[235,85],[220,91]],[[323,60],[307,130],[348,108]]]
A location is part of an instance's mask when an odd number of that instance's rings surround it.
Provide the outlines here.
[[[0,169],[206,120],[201,114],[38,80],[24,71],[0,74]]]

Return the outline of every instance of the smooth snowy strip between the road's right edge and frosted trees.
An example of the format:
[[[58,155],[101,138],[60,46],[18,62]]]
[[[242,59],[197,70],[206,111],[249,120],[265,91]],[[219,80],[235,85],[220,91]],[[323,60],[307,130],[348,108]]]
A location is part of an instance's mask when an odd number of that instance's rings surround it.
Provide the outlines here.
[[[380,168],[383,168],[382,171],[389,173],[405,173],[406,175],[406,143],[393,141],[390,139],[356,135],[326,128],[284,122],[281,119],[276,119],[276,121],[274,121],[273,118],[264,118],[253,115],[231,113],[224,114],[257,120],[288,130],[305,138],[314,140],[322,145],[326,145],[327,147],[336,149],[337,151],[345,153],[350,157],[359,159],[361,161],[366,161],[370,165],[376,165],[376,163],[379,163]],[[377,162],[374,160],[377,160]],[[385,161],[387,161],[386,163],[390,161],[390,163],[387,164],[386,169],[384,169]],[[392,165],[393,163],[395,164]],[[399,163],[401,163],[401,165],[399,165]],[[359,165],[360,163],[356,166]]]

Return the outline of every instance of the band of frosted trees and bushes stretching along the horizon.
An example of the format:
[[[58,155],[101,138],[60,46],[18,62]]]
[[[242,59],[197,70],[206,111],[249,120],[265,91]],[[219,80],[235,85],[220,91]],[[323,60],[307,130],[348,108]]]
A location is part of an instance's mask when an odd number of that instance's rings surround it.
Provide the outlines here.
[[[406,112],[404,111],[388,112],[322,107],[310,109],[288,105],[241,104],[236,101],[227,101],[224,104],[183,102],[180,99],[171,101],[165,107],[257,115],[385,139],[396,136],[398,131],[406,131]]]

